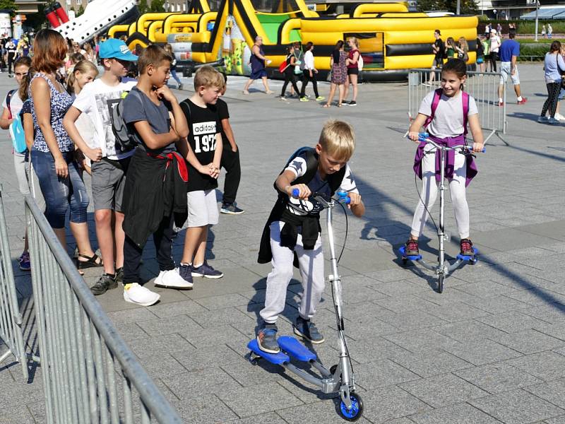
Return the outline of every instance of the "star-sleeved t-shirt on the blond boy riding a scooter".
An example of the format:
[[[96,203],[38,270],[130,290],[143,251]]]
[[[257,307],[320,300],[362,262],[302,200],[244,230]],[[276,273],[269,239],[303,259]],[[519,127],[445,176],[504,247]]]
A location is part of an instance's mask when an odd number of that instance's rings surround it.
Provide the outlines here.
[[[296,158],[290,161],[288,166],[285,168],[285,171],[290,170],[293,174],[296,175],[295,179],[298,177],[302,177],[306,173],[307,170],[307,163],[306,163],[306,153],[298,155]],[[316,172],[314,178],[307,184],[308,188],[312,193],[323,193],[326,195],[331,194],[331,188],[327,181],[321,179],[320,172]],[[345,175],[343,175],[343,179],[340,184],[340,188],[336,191],[343,190],[347,193],[357,193],[359,194],[359,190],[357,190],[357,184],[355,184],[355,178],[353,178],[353,174],[351,172],[351,168],[349,164],[345,164]],[[287,210],[290,213],[294,213],[295,215],[308,215],[311,211],[319,210],[317,206],[318,202],[314,199],[295,199],[292,196],[289,196],[288,203],[287,203]]]

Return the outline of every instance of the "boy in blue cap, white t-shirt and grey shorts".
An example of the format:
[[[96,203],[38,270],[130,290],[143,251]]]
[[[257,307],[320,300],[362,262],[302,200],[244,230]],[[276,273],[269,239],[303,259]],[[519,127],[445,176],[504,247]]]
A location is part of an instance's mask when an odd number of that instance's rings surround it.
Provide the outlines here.
[[[124,151],[116,143],[112,131],[112,110],[117,106],[122,95],[136,85],[136,81],[123,83],[121,78],[126,76],[131,62],[138,59],[129,51],[126,43],[115,38],[100,44],[99,55],[104,73],[93,83],[84,86],[63,121],[73,142],[92,160],[96,235],[104,262],[102,276],[90,288],[95,295],[102,295],[109,288],[116,288],[123,276],[125,236],[121,228],[124,222],[121,203],[133,148]],[[83,139],[76,127],[76,121],[81,116],[83,116],[81,119],[84,117],[90,119],[95,128],[93,138],[90,140]],[[112,216],[115,218],[113,233]],[[93,265],[97,257],[84,259],[86,261],[78,261],[79,269]]]

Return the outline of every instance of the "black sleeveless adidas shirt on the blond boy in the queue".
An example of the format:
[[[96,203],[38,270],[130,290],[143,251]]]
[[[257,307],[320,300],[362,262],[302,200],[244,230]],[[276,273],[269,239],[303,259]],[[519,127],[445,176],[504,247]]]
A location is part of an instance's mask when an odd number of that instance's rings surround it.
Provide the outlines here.
[[[221,128],[218,113],[208,107],[195,105],[189,99],[181,103],[181,109],[189,124],[189,143],[201,165],[208,165],[214,160],[216,134]],[[189,192],[211,190],[218,187],[218,180],[198,172],[190,163]]]

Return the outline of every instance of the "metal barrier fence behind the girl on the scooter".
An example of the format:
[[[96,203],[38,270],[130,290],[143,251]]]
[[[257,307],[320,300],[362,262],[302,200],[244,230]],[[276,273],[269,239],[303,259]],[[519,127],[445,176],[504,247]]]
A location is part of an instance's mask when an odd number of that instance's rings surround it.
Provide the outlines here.
[[[440,87],[441,71],[434,71],[434,81],[429,81],[429,69],[410,69],[408,73],[408,116],[414,119],[422,99],[432,90]],[[479,121],[485,134],[486,143],[494,134],[506,133],[506,84],[502,90],[504,105],[499,107],[500,73],[468,71],[465,91],[477,102]]]

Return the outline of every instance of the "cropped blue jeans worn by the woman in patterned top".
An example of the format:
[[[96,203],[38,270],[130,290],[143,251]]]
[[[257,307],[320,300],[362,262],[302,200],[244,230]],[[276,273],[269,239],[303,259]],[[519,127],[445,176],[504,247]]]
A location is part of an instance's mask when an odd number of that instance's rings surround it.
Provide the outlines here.
[[[57,177],[55,160],[50,152],[31,151],[33,169],[40,180],[45,203],[45,217],[52,228],[65,228],[66,211],[71,206],[71,223],[85,223],[88,194],[74,152],[64,152],[63,158],[69,166],[69,177]]]

